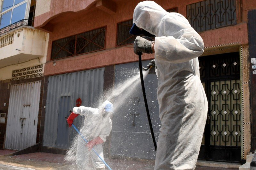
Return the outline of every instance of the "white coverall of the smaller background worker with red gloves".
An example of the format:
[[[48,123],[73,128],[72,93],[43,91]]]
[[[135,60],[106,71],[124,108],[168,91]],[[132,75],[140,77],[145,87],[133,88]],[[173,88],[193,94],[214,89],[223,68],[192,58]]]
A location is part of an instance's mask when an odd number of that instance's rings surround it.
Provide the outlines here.
[[[110,134],[112,129],[112,122],[110,119],[110,113],[103,117],[104,107],[109,102],[106,100],[100,108],[92,107],[74,107],[73,113],[84,115],[84,126],[80,130],[87,141],[91,141],[96,137],[100,137],[104,142],[106,137]],[[100,158],[91,150],[85,146],[85,142],[82,137],[78,136],[76,150],[76,166],[77,169],[105,169],[105,164],[100,160]],[[103,156],[103,147],[102,144],[95,145],[93,147],[96,152],[100,155],[102,159]]]

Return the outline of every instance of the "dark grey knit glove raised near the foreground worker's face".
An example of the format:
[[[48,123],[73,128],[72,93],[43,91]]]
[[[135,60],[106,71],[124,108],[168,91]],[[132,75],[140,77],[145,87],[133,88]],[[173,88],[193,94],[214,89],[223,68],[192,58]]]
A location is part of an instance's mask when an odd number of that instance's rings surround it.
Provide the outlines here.
[[[152,43],[154,41],[148,41],[145,38],[142,38],[140,36],[136,37],[134,43],[133,43],[133,51],[135,54],[139,55],[139,53],[148,53],[152,54]]]

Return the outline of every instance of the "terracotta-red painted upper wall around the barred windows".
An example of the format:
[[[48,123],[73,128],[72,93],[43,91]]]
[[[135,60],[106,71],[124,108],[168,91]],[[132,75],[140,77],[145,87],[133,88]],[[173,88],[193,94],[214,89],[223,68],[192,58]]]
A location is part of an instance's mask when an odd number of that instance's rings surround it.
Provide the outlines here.
[[[58,3],[59,1],[61,1],[61,3]],[[200,33],[204,40],[205,47],[234,42],[248,44],[247,19],[246,16],[243,15],[244,11],[241,9],[245,8],[247,10],[253,8],[253,5],[255,6],[256,4],[253,1],[254,0],[246,0],[246,3],[244,3],[245,0],[237,0],[237,25]],[[117,23],[132,19],[133,10],[140,2],[139,0],[116,0],[116,14],[114,15],[110,15],[96,8],[93,0],[86,1],[86,3],[82,0],[77,0],[76,4],[69,2],[68,0],[52,0],[50,12],[35,18],[35,26],[37,28],[51,31],[44,75],[87,70],[138,60],[137,55],[133,53],[132,46],[119,48],[115,46]],[[186,5],[199,1],[156,0],[155,2],[164,9],[178,7],[178,12],[186,17]],[[253,5],[248,5],[248,2]],[[105,50],[55,60],[56,66],[53,66],[53,61],[50,60],[52,41],[102,26],[107,26]],[[143,55],[143,59],[151,58],[154,58],[154,55]]]

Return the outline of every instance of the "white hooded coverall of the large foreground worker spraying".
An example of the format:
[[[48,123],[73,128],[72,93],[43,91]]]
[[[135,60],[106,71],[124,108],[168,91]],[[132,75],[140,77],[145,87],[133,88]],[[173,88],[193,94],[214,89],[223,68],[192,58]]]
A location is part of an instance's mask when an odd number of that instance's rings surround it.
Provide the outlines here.
[[[155,38],[157,99],[162,123],[155,169],[195,169],[207,117],[198,56],[204,42],[179,13],[140,2],[133,23]]]

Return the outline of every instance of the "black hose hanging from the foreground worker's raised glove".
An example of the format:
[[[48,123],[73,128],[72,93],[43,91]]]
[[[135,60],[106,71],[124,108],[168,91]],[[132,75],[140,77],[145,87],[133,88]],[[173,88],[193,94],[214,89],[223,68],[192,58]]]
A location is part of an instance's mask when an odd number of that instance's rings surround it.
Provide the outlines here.
[[[155,139],[155,135],[154,135],[154,131],[153,131],[151,119],[150,119],[150,114],[149,114],[149,110],[148,110],[148,102],[147,102],[147,96],[146,96],[146,91],[145,91],[145,86],[144,86],[144,80],[143,80],[142,63],[141,63],[141,54],[142,54],[142,53],[139,54],[140,82],[141,82],[141,88],[142,88],[143,98],[144,98],[145,107],[146,107],[147,116],[148,116],[148,124],[149,124],[149,127],[150,127],[150,132],[151,132],[151,136],[152,136],[153,143],[154,143],[154,146],[155,146],[155,151],[156,151],[156,139]]]

